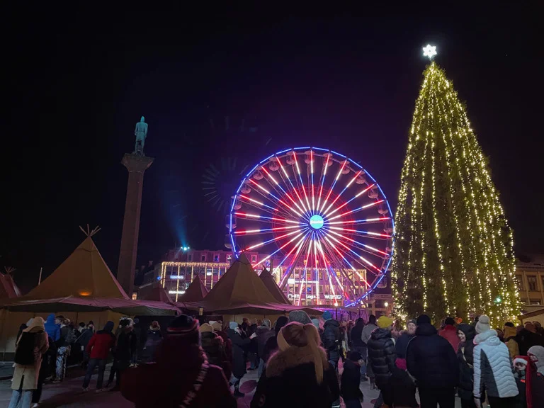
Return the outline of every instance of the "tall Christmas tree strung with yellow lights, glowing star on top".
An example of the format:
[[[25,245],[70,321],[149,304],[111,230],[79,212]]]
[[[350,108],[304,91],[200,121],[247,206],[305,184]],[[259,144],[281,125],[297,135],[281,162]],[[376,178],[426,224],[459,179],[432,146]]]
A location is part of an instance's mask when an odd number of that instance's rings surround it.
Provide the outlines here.
[[[433,61],[410,129],[394,246],[399,316],[485,313],[497,325],[518,314],[512,231],[465,106]]]

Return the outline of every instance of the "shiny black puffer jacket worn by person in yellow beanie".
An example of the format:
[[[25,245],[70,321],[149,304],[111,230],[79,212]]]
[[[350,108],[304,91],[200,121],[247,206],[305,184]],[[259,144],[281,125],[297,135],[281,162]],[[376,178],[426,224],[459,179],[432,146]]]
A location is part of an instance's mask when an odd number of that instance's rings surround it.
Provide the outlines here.
[[[391,331],[376,329],[372,332],[368,346],[368,362],[372,366],[376,378],[376,385],[387,385],[392,373],[397,370],[395,360],[395,342],[391,338]]]

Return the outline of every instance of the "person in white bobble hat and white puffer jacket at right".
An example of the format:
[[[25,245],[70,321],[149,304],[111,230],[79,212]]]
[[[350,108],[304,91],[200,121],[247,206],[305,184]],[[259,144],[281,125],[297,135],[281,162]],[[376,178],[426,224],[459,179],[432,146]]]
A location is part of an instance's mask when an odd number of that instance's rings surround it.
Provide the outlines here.
[[[493,408],[514,407],[518,386],[512,373],[510,354],[506,344],[489,327],[489,317],[482,314],[476,324],[474,338],[474,385],[476,407],[481,407],[482,390]]]

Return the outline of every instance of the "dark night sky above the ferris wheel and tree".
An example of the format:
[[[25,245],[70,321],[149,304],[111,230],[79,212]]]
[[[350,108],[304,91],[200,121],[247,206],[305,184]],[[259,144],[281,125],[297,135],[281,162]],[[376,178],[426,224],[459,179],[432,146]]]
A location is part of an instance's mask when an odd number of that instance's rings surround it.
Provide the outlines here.
[[[145,174],[139,265],[174,245],[222,249],[225,206],[206,201],[203,174],[215,166],[228,199],[246,166],[280,149],[347,154],[395,208],[428,42],[490,157],[516,252],[544,253],[536,1],[4,3],[17,4],[1,6],[0,266],[17,268],[23,290],[84,239],[79,225],[102,228],[94,239],[115,273],[128,179],[120,160],[134,149],[141,115],[155,162]]]

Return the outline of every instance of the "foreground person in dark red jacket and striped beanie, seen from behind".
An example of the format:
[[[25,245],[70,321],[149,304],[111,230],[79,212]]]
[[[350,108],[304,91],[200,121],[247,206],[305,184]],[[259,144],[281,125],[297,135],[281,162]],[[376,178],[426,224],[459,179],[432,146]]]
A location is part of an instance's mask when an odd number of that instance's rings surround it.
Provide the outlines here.
[[[198,320],[176,317],[157,350],[157,363],[125,371],[123,397],[135,408],[236,408],[222,369],[208,363],[199,344]]]

